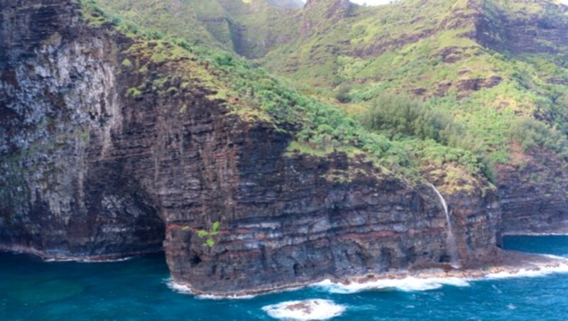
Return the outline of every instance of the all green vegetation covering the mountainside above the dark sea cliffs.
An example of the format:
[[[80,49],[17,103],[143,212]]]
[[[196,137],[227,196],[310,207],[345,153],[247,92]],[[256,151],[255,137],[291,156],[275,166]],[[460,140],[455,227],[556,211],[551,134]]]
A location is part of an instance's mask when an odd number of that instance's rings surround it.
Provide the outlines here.
[[[462,0],[354,6],[349,14],[330,1],[302,10],[263,0],[187,0],[175,9],[170,1],[83,3],[90,23],[112,21],[137,39],[128,54],[139,58],[124,67],[175,70],[129,89],[131,97],[205,87],[242,119],[300,128],[290,133],[290,154],[364,153],[384,173],[420,180],[445,168],[448,184],[466,186],[478,173],[494,182],[493,164],[508,163],[514,143],[527,153],[568,155],[567,48],[539,38],[547,53],[505,48],[502,14],[534,15],[542,26],[566,22],[541,1],[481,1],[491,24],[481,36],[494,46],[471,36],[482,31]]]

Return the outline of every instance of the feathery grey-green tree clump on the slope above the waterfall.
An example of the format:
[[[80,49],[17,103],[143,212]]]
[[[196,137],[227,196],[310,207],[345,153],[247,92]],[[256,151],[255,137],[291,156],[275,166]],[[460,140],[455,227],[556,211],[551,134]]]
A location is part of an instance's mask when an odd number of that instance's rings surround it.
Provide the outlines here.
[[[484,142],[466,134],[460,124],[427,104],[383,94],[361,114],[360,121],[368,130],[400,141],[402,149],[419,163],[460,164],[470,173],[484,173],[495,183],[493,161],[482,153]]]

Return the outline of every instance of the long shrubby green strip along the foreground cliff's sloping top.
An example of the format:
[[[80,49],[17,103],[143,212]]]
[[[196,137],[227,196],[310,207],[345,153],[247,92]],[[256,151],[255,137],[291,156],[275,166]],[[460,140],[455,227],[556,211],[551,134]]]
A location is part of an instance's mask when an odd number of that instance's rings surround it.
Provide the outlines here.
[[[349,156],[360,154],[382,168],[383,173],[397,175],[409,182],[421,179],[417,164],[398,143],[366,130],[342,109],[290,89],[287,81],[252,67],[250,62],[232,53],[190,44],[177,38],[177,34],[173,34],[175,37],[157,36],[141,27],[135,28],[135,33],[134,21],[125,16],[118,19],[122,11],[105,12],[91,0],[84,0],[82,4],[89,23],[101,26],[105,21],[118,21],[113,28],[136,39],[127,50],[134,58],[122,62],[123,67],[146,75],[151,72],[148,62],[159,62],[163,70],[168,70],[158,80],[141,82],[130,88],[127,94],[180,94],[187,92],[182,89],[188,86],[204,87],[211,92],[210,99],[220,99],[246,121],[265,121],[282,131],[289,130],[290,124],[298,125],[300,130],[290,133],[295,136],[289,147],[290,153],[325,156],[344,151]],[[181,85],[172,87],[172,84]],[[180,114],[187,108],[180,106]],[[471,166],[467,173],[479,173],[477,161],[471,155],[468,157]],[[349,173],[345,175],[349,178]],[[332,179],[345,179],[339,176],[335,173]]]

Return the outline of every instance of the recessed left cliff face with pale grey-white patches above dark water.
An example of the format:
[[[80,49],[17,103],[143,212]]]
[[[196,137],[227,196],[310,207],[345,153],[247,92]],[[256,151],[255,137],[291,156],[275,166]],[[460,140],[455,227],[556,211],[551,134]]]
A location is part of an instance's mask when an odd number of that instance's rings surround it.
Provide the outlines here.
[[[163,223],[110,153],[116,42],[70,1],[0,4],[0,240],[46,256],[160,249]],[[128,41],[127,39],[120,39]]]

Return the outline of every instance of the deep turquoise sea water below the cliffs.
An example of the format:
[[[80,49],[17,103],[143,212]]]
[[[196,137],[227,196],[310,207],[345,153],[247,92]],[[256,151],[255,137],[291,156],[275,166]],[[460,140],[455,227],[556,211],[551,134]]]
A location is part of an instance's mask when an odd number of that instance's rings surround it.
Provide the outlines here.
[[[568,257],[568,236],[510,236],[505,246]],[[344,311],[334,320],[568,320],[562,273],[415,291],[312,287],[241,300],[178,293],[167,279],[163,255],[75,263],[0,253],[0,320],[273,320],[263,307],[306,299],[339,305]]]

